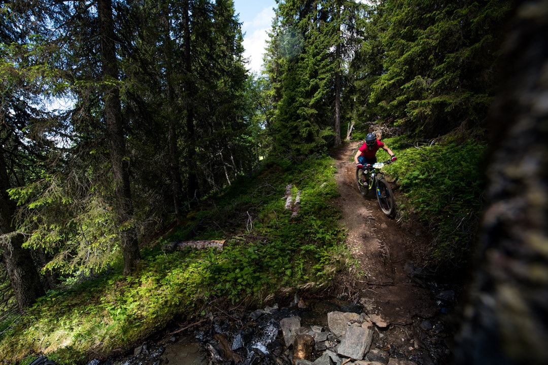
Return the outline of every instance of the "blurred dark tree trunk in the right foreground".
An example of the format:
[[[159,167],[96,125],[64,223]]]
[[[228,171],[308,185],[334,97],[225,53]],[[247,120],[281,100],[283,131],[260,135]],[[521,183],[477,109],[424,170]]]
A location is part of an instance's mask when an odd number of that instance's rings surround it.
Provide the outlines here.
[[[459,365],[548,361],[548,0],[522,2],[512,25]]]

